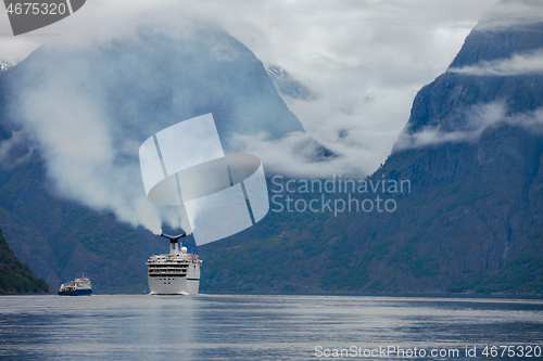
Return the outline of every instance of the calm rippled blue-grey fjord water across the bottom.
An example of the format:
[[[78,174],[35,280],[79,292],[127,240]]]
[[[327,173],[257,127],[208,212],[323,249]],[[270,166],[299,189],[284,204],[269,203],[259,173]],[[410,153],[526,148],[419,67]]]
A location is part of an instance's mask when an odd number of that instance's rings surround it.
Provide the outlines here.
[[[497,357],[482,354],[484,346],[501,345],[514,346],[509,350],[515,354],[501,358],[500,348]],[[519,357],[518,346],[528,345],[532,357]],[[344,358],[359,360],[543,360],[543,354],[534,353],[536,345],[543,347],[541,300],[247,295],[0,297],[0,359],[5,360],[338,359],[334,349],[349,349],[349,354],[343,351]],[[405,352],[416,347],[417,356],[376,356],[379,347],[382,350],[389,346]],[[477,347],[476,358],[466,357],[466,346],[469,350]],[[419,354],[421,349],[426,357]],[[453,351],[432,358],[432,349],[457,349],[458,354]]]

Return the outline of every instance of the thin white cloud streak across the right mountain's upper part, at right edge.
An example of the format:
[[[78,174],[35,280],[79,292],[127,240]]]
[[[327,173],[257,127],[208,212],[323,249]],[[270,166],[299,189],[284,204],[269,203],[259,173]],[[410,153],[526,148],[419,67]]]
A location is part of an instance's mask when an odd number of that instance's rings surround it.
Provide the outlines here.
[[[543,74],[543,50],[528,54],[516,54],[510,59],[480,62],[477,65],[452,67],[447,72],[475,76],[513,76]]]

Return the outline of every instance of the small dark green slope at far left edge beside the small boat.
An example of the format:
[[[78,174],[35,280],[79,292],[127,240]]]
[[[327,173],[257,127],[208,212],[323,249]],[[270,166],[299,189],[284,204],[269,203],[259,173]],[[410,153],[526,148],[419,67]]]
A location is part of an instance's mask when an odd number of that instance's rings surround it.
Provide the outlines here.
[[[0,294],[50,291],[43,279],[38,279],[28,265],[13,255],[0,230]]]

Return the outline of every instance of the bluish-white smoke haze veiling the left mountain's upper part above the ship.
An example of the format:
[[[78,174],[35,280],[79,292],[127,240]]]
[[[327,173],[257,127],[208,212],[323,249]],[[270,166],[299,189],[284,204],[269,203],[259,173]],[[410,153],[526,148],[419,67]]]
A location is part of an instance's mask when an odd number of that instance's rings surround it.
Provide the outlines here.
[[[154,233],[163,223],[189,230],[180,207],[146,198],[138,159],[146,139],[206,113],[230,153],[228,134],[303,131],[262,63],[213,25],[138,26],[103,44],[91,39],[45,46],[10,74],[24,130],[0,144],[0,156],[29,134],[58,196]]]

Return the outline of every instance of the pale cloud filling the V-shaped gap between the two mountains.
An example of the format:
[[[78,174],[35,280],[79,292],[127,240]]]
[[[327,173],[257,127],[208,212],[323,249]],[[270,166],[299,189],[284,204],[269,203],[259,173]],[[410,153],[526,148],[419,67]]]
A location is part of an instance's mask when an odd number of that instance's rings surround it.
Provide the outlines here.
[[[258,59],[281,66],[319,95],[311,102],[285,96],[285,102],[307,134],[337,156],[304,160],[294,145],[299,134],[277,144],[275,153],[265,138],[244,143],[266,169],[280,169],[279,154],[289,157],[283,172],[291,176],[372,173],[402,132],[417,91],[446,69],[494,2],[279,1],[244,15],[243,23],[226,16],[225,28]]]

